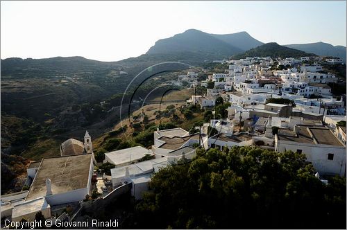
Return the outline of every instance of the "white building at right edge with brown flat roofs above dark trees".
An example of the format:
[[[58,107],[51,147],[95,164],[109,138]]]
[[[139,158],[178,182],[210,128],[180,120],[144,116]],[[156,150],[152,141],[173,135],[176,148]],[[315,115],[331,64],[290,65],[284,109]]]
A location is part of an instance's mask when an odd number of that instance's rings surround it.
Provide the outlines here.
[[[324,126],[296,125],[294,131],[279,130],[276,151],[302,152],[321,175],[345,175],[346,146]]]

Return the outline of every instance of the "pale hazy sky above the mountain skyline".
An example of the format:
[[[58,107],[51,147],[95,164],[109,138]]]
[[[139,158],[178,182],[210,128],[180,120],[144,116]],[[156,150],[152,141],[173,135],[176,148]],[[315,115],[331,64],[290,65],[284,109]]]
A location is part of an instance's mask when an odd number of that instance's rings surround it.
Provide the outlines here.
[[[346,1],[1,1],[1,58],[115,61],[189,28],[346,46]]]

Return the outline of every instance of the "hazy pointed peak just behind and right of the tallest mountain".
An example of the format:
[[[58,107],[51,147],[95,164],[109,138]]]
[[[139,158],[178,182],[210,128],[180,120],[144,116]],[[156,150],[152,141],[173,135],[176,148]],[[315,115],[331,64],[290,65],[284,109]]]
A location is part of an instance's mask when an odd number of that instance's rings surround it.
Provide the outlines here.
[[[250,48],[255,48],[257,46],[264,44],[258,41],[257,39],[251,37],[251,35],[249,35],[245,31],[239,32],[239,33],[230,33],[227,35],[214,35],[214,34],[210,34],[210,35],[232,46],[241,48],[244,51],[248,51],[248,49]]]

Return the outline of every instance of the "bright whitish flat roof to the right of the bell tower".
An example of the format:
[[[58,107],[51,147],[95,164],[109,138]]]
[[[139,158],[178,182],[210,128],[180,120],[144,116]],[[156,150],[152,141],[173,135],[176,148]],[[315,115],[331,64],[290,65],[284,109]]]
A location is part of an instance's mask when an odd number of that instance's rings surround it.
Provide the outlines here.
[[[137,161],[144,157],[146,154],[153,155],[151,150],[147,150],[142,146],[135,146],[132,148],[126,148],[124,150],[117,150],[112,152],[106,152],[105,156],[110,159],[116,166],[122,163],[128,163],[131,161]]]

